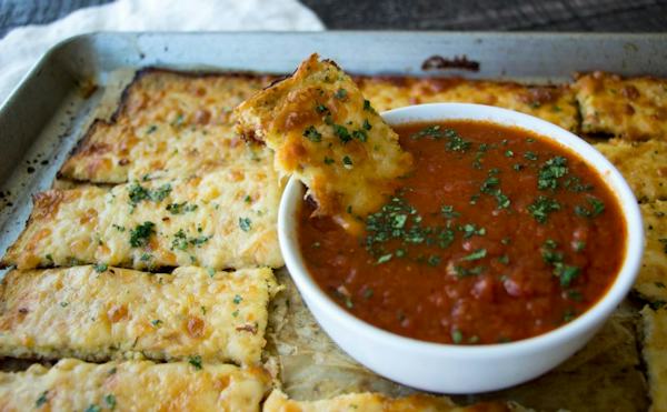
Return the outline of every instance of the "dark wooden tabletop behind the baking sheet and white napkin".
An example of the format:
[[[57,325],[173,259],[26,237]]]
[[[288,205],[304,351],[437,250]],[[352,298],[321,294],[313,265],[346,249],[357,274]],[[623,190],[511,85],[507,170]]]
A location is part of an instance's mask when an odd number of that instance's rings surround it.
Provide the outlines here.
[[[243,0],[238,0],[243,1]],[[267,0],[270,1],[270,0]],[[0,37],[108,0],[0,0]],[[667,31],[667,0],[301,0],[328,29]]]

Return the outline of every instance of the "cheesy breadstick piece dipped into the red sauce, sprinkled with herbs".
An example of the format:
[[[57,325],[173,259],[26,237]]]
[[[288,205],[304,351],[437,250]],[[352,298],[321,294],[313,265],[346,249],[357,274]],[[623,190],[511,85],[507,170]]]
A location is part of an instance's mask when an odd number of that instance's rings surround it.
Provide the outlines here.
[[[350,223],[379,207],[411,165],[398,134],[365,102],[342,70],[312,54],[236,113],[243,134],[276,152],[276,168],[306,183],[317,213]]]

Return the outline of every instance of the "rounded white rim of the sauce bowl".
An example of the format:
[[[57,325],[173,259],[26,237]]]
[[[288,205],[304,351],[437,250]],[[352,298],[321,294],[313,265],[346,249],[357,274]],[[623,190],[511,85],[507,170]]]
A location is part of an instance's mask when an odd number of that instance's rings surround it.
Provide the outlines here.
[[[451,114],[451,112],[456,113],[457,111],[470,114]],[[625,299],[639,270],[645,242],[644,224],[639,205],[629,185],[620,172],[593,145],[574,133],[545,120],[484,104],[417,104],[386,111],[381,113],[381,117],[390,125],[446,120],[490,121],[531,131],[575,152],[578,158],[583,159],[603,178],[620,205],[626,230],[625,257],[620,270],[605,294],[593,307],[573,321],[531,338],[505,343],[466,345],[421,341],[399,335],[349,313],[329,298],[312,279],[301,258],[298,237],[296,235],[298,220],[295,213],[303,195],[303,184],[296,177],[291,177],[280,200],[278,237],[280,251],[290,277],[309,304],[315,303],[319,309],[335,314],[337,321],[344,323],[344,329],[372,338],[376,341],[381,340],[384,345],[400,346],[401,350],[409,348],[427,355],[448,353],[460,359],[490,359],[516,353],[516,351],[538,352],[552,346],[555,343],[576,339],[599,326]]]

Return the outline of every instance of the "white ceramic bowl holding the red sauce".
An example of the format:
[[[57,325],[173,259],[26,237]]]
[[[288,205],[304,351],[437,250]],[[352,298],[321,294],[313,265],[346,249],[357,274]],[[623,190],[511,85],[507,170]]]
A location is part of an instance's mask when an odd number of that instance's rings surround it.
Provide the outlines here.
[[[574,150],[616,194],[626,219],[626,255],[605,297],[574,321],[545,334],[510,343],[452,345],[400,336],[355,318],[309,275],[297,239],[302,184],[292,178],[280,202],[280,250],[291,277],[322,329],[348,354],[376,373],[426,391],[475,393],[511,386],[536,378],[574,354],[603,325],[635,281],[644,250],[637,201],[620,173],[598,151],[573,133],[544,120],[479,104],[412,105],[382,113],[391,125],[450,119],[487,120],[519,127]]]

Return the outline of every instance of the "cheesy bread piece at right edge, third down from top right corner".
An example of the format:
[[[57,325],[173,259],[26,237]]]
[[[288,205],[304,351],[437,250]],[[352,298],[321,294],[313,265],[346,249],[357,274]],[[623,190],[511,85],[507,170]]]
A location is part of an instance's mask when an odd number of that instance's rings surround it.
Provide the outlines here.
[[[667,201],[641,204],[646,245],[635,290],[650,301],[667,302]]]

